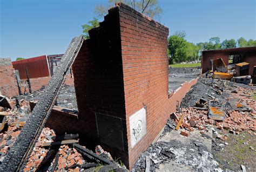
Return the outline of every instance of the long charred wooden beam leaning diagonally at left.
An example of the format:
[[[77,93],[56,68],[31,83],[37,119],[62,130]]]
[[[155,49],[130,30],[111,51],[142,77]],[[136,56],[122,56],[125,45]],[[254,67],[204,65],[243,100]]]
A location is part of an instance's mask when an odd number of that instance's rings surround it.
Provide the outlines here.
[[[8,155],[6,155],[3,160],[0,171],[21,171],[24,168],[33,147],[51,114],[51,109],[54,106],[60,86],[65,81],[65,75],[75,61],[82,43],[82,35],[71,40],[68,49],[60,61],[59,67],[53,74],[48,86],[41,95],[39,102],[33,109],[30,118],[26,121],[14,146],[11,147]]]

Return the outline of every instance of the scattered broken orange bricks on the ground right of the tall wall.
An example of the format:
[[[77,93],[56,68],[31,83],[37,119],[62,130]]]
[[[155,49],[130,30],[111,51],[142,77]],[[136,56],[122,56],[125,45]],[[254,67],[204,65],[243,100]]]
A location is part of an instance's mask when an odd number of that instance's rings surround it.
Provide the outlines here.
[[[173,118],[174,122],[178,124],[181,114],[185,113],[183,123],[180,126],[183,130],[180,134],[188,136],[194,129],[200,130],[200,133],[204,134],[208,126],[213,126],[220,130],[228,130],[232,134],[248,131],[248,133],[256,135],[256,100],[253,98],[253,90],[247,87],[236,86],[228,87],[226,92],[230,101],[235,102],[235,104],[241,102],[250,108],[251,111],[238,111],[232,109],[232,107],[227,108],[225,119],[223,121],[216,121],[208,118],[207,109],[202,111],[193,107],[181,108],[181,111],[176,113],[176,118]],[[223,138],[221,137],[221,139]]]

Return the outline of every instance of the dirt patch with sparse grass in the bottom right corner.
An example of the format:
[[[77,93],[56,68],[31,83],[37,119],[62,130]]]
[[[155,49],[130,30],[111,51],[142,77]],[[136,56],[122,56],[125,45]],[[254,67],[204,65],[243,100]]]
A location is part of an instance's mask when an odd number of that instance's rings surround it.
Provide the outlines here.
[[[212,148],[212,154],[219,162],[220,167],[239,171],[241,165],[244,165],[247,171],[256,171],[256,136],[248,132],[238,135],[224,132],[223,134],[227,135],[228,139],[225,141],[217,139],[214,144],[221,146],[213,146]]]

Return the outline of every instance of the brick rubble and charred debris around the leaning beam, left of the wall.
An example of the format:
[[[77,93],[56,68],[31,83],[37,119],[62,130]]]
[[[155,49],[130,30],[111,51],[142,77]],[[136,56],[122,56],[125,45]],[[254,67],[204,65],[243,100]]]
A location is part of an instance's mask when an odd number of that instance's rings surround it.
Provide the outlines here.
[[[66,94],[65,86],[63,94]],[[72,88],[71,88],[72,90]],[[0,133],[0,163],[8,154],[10,148],[14,145],[21,129],[25,125],[26,120],[31,115],[29,101],[37,99],[43,91],[33,92],[12,98],[8,101],[9,107],[0,106],[0,115],[4,114],[6,119],[3,122],[3,129]],[[30,97],[28,100],[26,98]],[[64,102],[63,102],[64,103]],[[100,146],[97,146],[95,152],[80,146],[93,155],[98,155],[98,159],[83,153],[73,146],[73,143],[79,141],[78,134],[56,135],[54,130],[45,127],[39,136],[32,153],[24,166],[24,171],[84,171],[95,170],[97,166],[107,169],[119,169],[126,171],[125,167],[121,167],[113,161],[110,153],[105,152]],[[69,140],[73,139],[73,140]],[[78,139],[78,140],[74,140]],[[64,143],[64,142],[69,143]],[[107,161],[104,163],[102,161]],[[98,169],[100,169],[98,168]]]

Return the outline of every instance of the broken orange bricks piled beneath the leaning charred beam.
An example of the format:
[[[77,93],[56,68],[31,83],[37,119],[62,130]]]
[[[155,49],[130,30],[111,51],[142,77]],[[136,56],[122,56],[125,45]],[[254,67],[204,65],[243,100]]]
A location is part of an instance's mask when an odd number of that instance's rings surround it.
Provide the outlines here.
[[[1,139],[1,161],[8,153],[9,148],[15,142],[17,136],[21,132],[21,129],[16,126],[8,127],[5,133],[0,133]],[[59,145],[56,150],[55,147],[42,147],[45,142],[52,142],[52,138],[55,137],[55,132],[45,127],[38,138],[38,141],[33,148],[33,151],[25,165],[24,171],[36,171],[36,170],[51,170],[51,171],[80,171],[83,170],[80,167],[70,168],[74,165],[85,164],[86,161],[82,155],[73,148],[72,145]],[[113,160],[110,153],[104,151],[100,146],[95,149],[97,155],[103,156],[109,160]],[[45,169],[46,167],[46,169]]]

